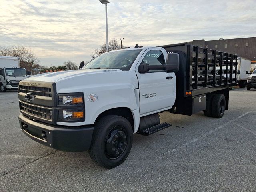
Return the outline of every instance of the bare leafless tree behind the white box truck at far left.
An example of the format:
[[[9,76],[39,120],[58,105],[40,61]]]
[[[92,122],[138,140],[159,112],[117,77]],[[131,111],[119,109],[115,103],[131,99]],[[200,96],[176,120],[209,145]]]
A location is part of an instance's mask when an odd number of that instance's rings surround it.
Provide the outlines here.
[[[18,57],[20,59],[20,67],[26,68],[26,70],[31,71],[32,69],[39,67],[39,59],[34,52],[25,46],[1,46],[0,54],[3,56]]]

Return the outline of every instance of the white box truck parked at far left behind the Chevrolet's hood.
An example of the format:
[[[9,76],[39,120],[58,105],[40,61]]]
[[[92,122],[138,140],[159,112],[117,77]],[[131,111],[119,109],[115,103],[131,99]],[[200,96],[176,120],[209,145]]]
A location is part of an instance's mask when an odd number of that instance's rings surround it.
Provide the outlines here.
[[[19,67],[18,57],[0,56],[0,91],[18,90],[21,80],[26,78],[26,70]]]

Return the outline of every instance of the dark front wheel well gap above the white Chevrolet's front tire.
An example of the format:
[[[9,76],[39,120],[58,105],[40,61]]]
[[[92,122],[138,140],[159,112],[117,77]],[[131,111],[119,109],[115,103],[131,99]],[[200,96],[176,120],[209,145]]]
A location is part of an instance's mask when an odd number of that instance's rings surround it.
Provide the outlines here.
[[[129,108],[118,107],[118,108],[113,108],[113,109],[106,110],[106,111],[102,112],[97,117],[95,122],[97,122],[100,118],[102,118],[103,116],[106,116],[106,115],[118,115],[118,116],[122,116],[122,117],[126,118],[130,122],[130,124],[132,126],[132,130],[134,130],[133,115],[132,115],[132,112]]]

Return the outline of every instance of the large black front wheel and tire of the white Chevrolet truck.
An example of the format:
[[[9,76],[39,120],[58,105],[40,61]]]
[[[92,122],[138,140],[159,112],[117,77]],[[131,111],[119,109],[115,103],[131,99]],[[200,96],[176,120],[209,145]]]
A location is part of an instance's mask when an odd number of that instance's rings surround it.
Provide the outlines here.
[[[132,139],[132,126],[126,118],[104,116],[94,126],[90,156],[96,164],[112,169],[126,160],[132,148]]]

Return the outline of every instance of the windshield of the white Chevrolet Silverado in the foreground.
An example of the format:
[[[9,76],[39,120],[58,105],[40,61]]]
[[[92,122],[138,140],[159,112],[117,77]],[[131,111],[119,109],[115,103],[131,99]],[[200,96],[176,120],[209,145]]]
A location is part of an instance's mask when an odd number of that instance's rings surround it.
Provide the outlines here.
[[[140,51],[141,49],[107,52],[91,60],[82,69],[108,68],[127,71],[130,70]]]

